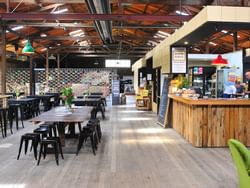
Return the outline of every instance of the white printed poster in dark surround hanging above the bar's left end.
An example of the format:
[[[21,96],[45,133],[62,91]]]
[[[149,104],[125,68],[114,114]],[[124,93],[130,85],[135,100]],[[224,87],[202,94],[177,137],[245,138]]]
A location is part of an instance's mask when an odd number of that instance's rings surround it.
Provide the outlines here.
[[[171,47],[171,73],[187,73],[187,48]]]

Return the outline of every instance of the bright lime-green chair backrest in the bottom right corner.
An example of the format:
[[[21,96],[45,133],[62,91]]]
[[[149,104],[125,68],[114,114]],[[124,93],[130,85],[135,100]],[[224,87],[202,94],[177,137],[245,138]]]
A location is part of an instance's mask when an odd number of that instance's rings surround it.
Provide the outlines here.
[[[230,139],[229,149],[237,169],[239,188],[250,187],[250,151],[239,141]]]

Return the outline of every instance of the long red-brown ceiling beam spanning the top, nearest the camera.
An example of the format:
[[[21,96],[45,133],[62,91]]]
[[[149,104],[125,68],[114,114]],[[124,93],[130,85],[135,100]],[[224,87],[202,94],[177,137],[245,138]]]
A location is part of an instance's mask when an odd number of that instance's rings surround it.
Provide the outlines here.
[[[67,21],[83,21],[83,20],[118,20],[118,21],[156,21],[156,22],[167,22],[167,21],[188,21],[192,16],[181,16],[181,15],[142,15],[142,14],[49,14],[49,13],[1,13],[0,19],[2,20],[67,20]]]

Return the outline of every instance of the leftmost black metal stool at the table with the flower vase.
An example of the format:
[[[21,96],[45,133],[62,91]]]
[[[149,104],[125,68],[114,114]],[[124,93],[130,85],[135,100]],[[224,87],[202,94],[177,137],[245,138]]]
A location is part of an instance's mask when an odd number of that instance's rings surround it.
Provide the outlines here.
[[[33,147],[35,159],[37,160],[37,146],[38,146],[38,143],[40,142],[40,135],[37,134],[37,133],[26,133],[26,134],[24,134],[24,135],[21,136],[21,141],[20,141],[20,146],[19,146],[17,160],[19,160],[19,157],[20,157],[20,154],[21,154],[21,150],[22,150],[23,142],[25,142],[24,153],[26,155],[30,140],[32,141],[31,147]]]

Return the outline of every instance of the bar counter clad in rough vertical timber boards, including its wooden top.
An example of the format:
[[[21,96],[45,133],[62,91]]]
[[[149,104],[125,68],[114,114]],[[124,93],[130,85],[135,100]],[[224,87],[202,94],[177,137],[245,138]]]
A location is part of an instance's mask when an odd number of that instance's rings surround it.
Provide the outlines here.
[[[196,147],[224,147],[229,138],[250,146],[250,100],[169,95],[172,126]]]

